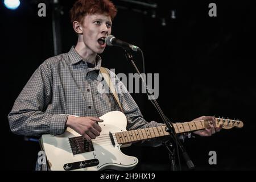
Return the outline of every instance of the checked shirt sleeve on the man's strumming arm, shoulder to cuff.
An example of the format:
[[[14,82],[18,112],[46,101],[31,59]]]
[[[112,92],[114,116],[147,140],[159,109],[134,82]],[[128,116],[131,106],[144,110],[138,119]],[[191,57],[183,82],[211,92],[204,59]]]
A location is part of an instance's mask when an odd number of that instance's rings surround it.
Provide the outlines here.
[[[8,114],[11,131],[33,136],[64,133],[68,115],[44,112],[51,99],[51,73],[42,64],[28,80]]]

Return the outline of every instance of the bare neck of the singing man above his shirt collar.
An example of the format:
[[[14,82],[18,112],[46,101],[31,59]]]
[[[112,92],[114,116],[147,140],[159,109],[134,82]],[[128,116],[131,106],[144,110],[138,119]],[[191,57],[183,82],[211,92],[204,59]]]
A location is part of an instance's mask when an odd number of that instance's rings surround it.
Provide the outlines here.
[[[91,64],[96,63],[97,53],[91,51],[88,47],[86,47],[84,42],[80,40],[80,38],[77,41],[75,50],[77,53],[79,53],[82,59],[86,60],[88,63],[91,63]]]

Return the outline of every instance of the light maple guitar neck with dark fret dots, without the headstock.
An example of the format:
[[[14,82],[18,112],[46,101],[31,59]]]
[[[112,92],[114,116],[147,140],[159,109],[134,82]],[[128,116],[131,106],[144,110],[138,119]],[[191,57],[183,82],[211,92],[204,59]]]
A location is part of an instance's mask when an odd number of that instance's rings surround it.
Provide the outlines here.
[[[174,123],[173,125],[175,129],[175,133],[179,134],[179,133],[185,133],[188,131],[205,129],[205,126],[208,125],[208,121],[199,120],[199,121],[191,121],[191,122],[184,122],[184,123]],[[166,125],[162,125],[162,126],[150,127],[146,129],[122,131],[119,133],[115,133],[115,137],[117,137],[117,142],[119,144],[131,143],[139,140],[158,138],[158,137],[170,135],[170,133],[168,133],[165,129],[166,129]]]

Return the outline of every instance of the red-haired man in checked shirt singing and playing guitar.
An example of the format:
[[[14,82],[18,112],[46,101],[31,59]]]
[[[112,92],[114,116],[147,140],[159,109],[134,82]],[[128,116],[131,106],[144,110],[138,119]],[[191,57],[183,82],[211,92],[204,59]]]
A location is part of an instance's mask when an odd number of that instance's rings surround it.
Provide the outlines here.
[[[98,54],[106,47],[104,39],[111,34],[117,10],[109,0],[79,0],[70,12],[77,44],[68,53],[44,61],[24,86],[8,115],[15,134],[60,135],[70,127],[90,141],[101,133],[98,117],[121,110],[111,93],[97,89],[102,61]],[[118,99],[127,117],[127,130],[162,125],[146,122],[129,93],[118,93]],[[212,120],[213,125],[196,134],[210,136],[220,130],[215,129],[213,117],[197,119]]]

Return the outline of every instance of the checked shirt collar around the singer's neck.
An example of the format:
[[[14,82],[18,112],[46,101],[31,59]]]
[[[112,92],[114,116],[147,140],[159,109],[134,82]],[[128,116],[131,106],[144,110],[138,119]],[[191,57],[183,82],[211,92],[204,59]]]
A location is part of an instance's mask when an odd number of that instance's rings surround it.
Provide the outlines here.
[[[86,67],[87,67],[87,62],[86,60],[82,59],[82,57],[79,55],[79,53],[76,52],[75,50],[75,46],[72,46],[70,51],[68,52],[68,56],[69,56],[69,60],[70,63],[73,64],[77,64],[80,61],[85,61],[86,63]],[[94,68],[89,68],[89,69],[100,69],[101,68],[101,57],[99,55],[96,56],[96,67]]]

